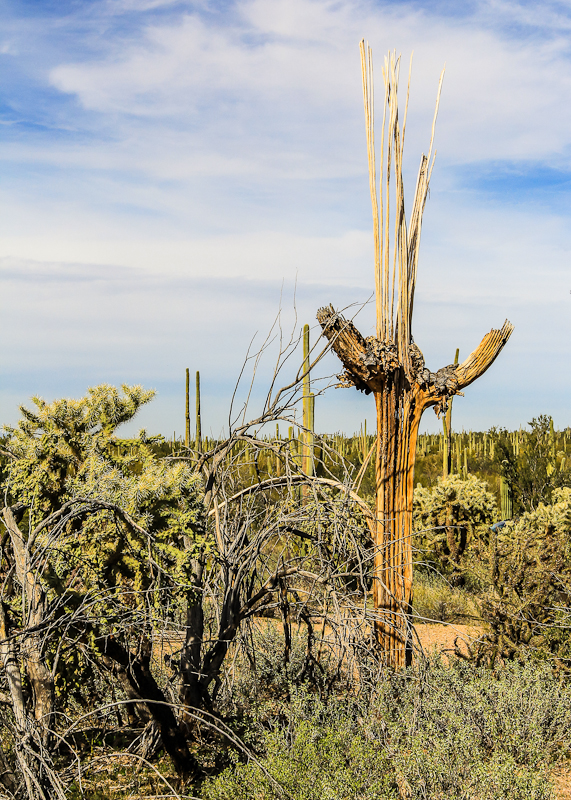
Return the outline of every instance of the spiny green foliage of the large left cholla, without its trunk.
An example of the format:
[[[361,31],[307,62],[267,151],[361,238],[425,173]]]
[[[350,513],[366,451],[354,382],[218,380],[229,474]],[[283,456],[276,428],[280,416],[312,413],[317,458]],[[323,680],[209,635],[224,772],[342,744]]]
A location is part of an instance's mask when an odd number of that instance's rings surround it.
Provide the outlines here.
[[[103,385],[79,400],[34,398],[36,410],[22,408],[8,429],[15,458],[3,488],[27,507],[23,530],[44,523],[30,558],[42,554],[33,563],[54,626],[46,661],[62,702],[89,702],[92,655],[105,637],[137,641],[181,613],[192,560],[210,546],[199,476],[157,457],[161,437],[116,436],[153,394]],[[66,503],[68,516],[50,516]],[[19,594],[4,600],[15,621]]]

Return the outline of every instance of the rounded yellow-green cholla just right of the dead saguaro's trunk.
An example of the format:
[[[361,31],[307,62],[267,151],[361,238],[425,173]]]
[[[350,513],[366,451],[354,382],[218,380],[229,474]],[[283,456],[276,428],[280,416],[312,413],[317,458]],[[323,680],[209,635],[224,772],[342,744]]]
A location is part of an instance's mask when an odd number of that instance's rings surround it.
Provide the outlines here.
[[[440,479],[430,489],[417,486],[413,520],[420,562],[429,562],[462,582],[461,562],[474,533],[497,518],[496,501],[475,475]]]

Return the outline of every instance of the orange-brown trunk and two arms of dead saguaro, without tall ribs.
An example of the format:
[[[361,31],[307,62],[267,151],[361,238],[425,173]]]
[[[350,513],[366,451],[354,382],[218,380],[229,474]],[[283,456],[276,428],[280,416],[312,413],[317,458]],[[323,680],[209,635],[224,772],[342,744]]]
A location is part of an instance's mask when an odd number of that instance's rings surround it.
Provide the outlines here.
[[[409,369],[393,342],[366,339],[332,306],[319,309],[317,319],[345,371],[340,386],[373,393],[377,409],[376,519],[373,596],[376,628],[386,663],[398,669],[411,657],[412,500],[416,440],[424,411],[445,412],[455,394],[482,375],[499,355],[513,326],[486,334],[478,347],[457,366],[437,372],[425,367],[420,349],[409,343]],[[408,373],[408,374],[407,374]]]

